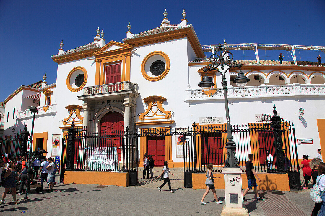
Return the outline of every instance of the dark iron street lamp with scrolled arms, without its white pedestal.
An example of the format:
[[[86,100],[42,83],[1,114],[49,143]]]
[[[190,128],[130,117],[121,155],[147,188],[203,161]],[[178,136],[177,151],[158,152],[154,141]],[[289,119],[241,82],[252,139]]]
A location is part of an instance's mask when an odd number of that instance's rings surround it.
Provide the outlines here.
[[[220,54],[218,54],[220,53]],[[217,71],[222,76],[222,87],[224,90],[224,96],[225,96],[225,106],[226,106],[226,118],[227,118],[227,139],[228,142],[226,142],[226,149],[227,149],[227,159],[225,161],[225,167],[239,167],[238,160],[236,158],[236,151],[235,151],[235,142],[232,141],[232,134],[231,134],[231,124],[230,124],[230,118],[229,118],[229,107],[228,107],[228,96],[227,96],[227,81],[226,81],[226,73],[230,68],[238,67],[239,70],[241,68],[240,62],[237,63],[237,61],[233,61],[233,54],[227,51],[227,43],[226,40],[221,46],[219,43],[218,50],[216,50],[209,58],[210,62],[212,64],[209,64],[206,66],[203,71],[205,72],[205,76],[203,77],[203,80],[199,83],[198,86],[202,88],[204,91],[208,91],[211,89],[212,86],[214,86],[214,83],[209,80],[209,77],[206,76],[206,73],[208,71]],[[218,69],[220,66],[221,71]],[[227,69],[225,69],[225,66],[227,66]],[[238,73],[238,76],[233,80],[234,83],[237,84],[239,87],[246,86],[247,82],[250,81],[249,78],[247,78],[244,73],[240,70]]]

